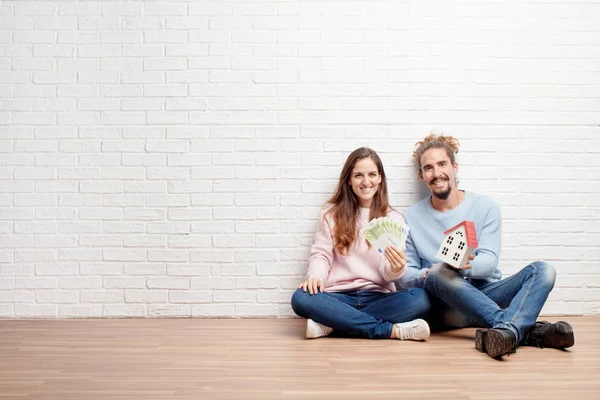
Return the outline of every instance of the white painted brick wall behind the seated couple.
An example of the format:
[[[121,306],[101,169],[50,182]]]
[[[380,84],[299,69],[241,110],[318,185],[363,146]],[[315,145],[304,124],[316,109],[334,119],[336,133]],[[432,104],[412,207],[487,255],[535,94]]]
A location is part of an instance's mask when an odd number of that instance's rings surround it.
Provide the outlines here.
[[[598,314],[599,125],[598,1],[4,0],[0,316],[291,316],[345,156],[404,210],[431,129]]]

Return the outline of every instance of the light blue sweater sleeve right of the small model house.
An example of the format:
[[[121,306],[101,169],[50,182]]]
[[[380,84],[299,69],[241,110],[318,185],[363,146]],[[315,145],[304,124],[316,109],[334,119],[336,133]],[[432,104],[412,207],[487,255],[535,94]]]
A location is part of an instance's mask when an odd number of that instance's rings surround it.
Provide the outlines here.
[[[500,206],[496,202],[492,202],[479,233],[479,246],[473,252],[475,259],[471,261],[471,269],[463,271],[463,276],[474,279],[485,279],[492,276],[498,267],[501,237]]]

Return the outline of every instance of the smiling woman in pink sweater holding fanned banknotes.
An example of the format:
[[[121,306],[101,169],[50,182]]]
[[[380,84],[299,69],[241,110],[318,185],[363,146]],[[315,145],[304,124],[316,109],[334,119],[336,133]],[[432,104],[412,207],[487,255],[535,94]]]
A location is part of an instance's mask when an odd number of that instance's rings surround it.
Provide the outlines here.
[[[389,205],[381,159],[361,147],[348,156],[321,211],[306,281],[292,296],[294,312],[308,318],[307,338],[333,330],[370,339],[429,337],[429,326],[420,319],[430,308],[425,291],[396,292],[393,284],[406,271],[406,256],[393,246],[380,256],[359,232],[373,218],[386,216],[404,223]]]

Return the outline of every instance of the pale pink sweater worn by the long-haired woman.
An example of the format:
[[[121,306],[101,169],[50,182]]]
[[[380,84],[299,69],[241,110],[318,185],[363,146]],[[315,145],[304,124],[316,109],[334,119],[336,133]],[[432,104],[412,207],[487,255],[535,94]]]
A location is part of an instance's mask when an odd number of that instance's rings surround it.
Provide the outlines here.
[[[348,254],[341,255],[334,247],[334,222],[331,215],[325,217],[327,210],[328,208],[321,210],[308,258],[307,279],[321,279],[327,292],[396,291],[392,282],[404,275],[406,268],[398,273],[392,272],[387,258],[380,256],[373,247],[369,248],[366,239],[360,234],[358,240],[348,249]],[[402,215],[395,210],[390,211],[387,216],[396,222],[404,223]],[[369,209],[361,208],[358,230],[368,222]]]

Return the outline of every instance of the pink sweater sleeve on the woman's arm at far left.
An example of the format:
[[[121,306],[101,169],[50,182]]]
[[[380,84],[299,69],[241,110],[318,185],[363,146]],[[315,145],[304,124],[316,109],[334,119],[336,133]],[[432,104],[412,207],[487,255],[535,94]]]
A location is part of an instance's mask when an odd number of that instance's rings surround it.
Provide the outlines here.
[[[321,211],[313,244],[308,257],[308,270],[306,279],[318,278],[322,282],[329,276],[333,263],[333,236],[325,211]]]

